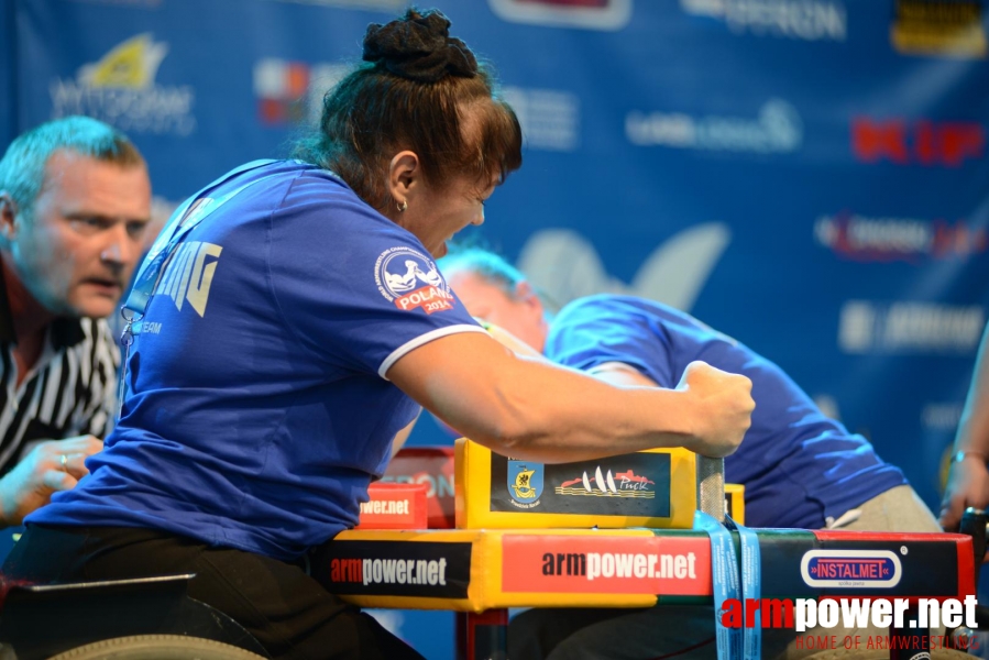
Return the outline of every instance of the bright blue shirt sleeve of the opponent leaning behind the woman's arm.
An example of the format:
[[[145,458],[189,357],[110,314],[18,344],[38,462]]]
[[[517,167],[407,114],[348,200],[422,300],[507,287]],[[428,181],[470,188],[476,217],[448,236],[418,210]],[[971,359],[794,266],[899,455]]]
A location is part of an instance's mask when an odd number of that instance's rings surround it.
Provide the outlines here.
[[[609,296],[581,298],[553,319],[546,356],[581,371],[620,362],[661,387],[675,387],[670,337],[649,314]]]

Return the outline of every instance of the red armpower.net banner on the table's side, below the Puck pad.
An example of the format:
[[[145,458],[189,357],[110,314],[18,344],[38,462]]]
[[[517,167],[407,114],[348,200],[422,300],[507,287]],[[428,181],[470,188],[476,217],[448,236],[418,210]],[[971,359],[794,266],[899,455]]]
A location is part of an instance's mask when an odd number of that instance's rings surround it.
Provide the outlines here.
[[[502,537],[505,593],[711,595],[706,536]]]

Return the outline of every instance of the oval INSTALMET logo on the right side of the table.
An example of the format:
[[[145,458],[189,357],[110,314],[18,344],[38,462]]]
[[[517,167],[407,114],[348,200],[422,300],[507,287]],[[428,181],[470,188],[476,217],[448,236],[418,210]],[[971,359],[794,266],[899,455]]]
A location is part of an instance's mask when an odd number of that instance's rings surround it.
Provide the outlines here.
[[[889,550],[811,550],[800,562],[810,586],[891,588],[900,583],[900,558]]]

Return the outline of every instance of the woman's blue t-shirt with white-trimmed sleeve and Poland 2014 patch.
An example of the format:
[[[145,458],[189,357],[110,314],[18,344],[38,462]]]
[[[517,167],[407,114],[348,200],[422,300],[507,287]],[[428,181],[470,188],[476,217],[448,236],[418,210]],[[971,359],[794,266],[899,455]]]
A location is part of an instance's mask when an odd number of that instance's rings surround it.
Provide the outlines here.
[[[208,196],[249,182],[172,253],[91,475],[28,522],[146,527],[295,558],[356,522],[420,410],[388,367],[484,331],[418,239],[330,173],[275,162]]]

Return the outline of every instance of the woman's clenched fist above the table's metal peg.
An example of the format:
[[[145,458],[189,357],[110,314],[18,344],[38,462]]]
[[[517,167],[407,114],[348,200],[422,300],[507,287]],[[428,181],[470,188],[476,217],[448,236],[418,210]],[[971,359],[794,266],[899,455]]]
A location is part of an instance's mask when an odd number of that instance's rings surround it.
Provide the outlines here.
[[[677,389],[691,395],[695,415],[694,442],[686,448],[713,458],[734,453],[751,425],[756,408],[752,382],[705,362],[691,362]]]

